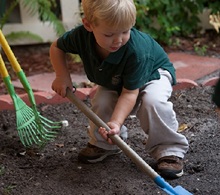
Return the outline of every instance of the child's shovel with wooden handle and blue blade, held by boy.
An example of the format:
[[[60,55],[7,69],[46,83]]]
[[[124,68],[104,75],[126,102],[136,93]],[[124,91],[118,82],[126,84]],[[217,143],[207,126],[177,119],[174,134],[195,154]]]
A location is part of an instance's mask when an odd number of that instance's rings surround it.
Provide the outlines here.
[[[88,106],[79,100],[70,89],[67,89],[67,98],[74,103],[97,127],[104,127],[110,130]],[[134,150],[132,150],[118,135],[110,135],[112,141],[142,170],[144,171],[162,190],[170,195],[192,195],[181,186],[172,187],[157,172],[155,172]]]

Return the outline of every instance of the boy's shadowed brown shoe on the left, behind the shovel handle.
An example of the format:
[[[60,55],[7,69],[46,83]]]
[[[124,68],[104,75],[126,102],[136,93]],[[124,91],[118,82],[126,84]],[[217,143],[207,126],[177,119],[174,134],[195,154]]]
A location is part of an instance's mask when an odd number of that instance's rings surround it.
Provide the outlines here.
[[[83,163],[97,163],[103,161],[108,156],[119,153],[121,153],[120,149],[105,150],[88,143],[87,147],[80,151],[78,160]]]

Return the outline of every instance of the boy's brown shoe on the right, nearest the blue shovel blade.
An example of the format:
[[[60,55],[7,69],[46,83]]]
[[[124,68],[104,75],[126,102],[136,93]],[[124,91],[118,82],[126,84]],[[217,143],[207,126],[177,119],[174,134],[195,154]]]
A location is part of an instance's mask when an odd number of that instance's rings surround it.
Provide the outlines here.
[[[157,172],[167,179],[179,178],[183,175],[183,159],[177,156],[164,156],[157,162]]]

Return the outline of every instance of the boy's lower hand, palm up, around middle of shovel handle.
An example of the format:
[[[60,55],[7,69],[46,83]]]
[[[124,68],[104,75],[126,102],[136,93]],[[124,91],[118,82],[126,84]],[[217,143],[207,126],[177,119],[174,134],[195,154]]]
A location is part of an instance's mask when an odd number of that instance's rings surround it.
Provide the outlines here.
[[[120,134],[120,125],[114,122],[108,122],[107,125],[110,127],[110,131],[107,131],[104,127],[99,128],[99,133],[101,136],[109,143],[114,144],[113,141],[110,139],[109,135]]]

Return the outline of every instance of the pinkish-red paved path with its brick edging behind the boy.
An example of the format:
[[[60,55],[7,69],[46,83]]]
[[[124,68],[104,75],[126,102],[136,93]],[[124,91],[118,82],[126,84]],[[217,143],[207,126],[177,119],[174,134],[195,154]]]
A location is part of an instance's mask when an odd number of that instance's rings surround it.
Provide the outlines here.
[[[174,90],[198,86],[213,86],[219,78],[220,59],[212,57],[195,56],[186,53],[170,53],[169,58],[176,68],[177,85]],[[74,83],[87,82],[86,75],[71,75]],[[28,77],[28,81],[34,92],[37,104],[48,103],[58,104],[69,101],[62,98],[51,90],[51,83],[54,79],[54,73],[45,73]],[[13,85],[21,87],[19,81],[13,81]],[[91,98],[96,91],[93,88],[78,88],[76,95],[85,100]],[[19,95],[24,102],[29,104],[27,94]],[[0,96],[0,110],[14,109],[13,102],[9,95]]]

